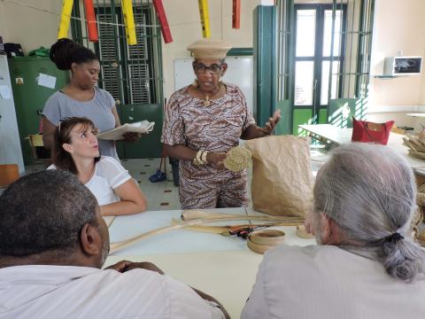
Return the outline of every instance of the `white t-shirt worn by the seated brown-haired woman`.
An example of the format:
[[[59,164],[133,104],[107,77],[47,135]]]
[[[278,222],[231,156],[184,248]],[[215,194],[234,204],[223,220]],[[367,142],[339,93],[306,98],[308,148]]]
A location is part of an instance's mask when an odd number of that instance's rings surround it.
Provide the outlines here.
[[[50,165],[47,169],[56,169],[55,165]],[[117,159],[110,156],[102,156],[95,166],[95,173],[86,183],[87,188],[95,195],[99,206],[120,201],[120,198],[113,190],[131,178]]]

